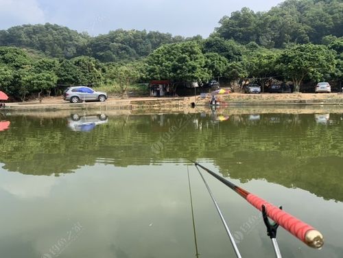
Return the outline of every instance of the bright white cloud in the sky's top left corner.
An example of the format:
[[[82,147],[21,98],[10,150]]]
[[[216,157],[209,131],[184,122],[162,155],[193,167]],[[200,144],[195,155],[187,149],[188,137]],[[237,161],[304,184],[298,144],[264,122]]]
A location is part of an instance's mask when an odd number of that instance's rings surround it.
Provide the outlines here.
[[[26,23],[45,23],[44,12],[36,0],[0,0],[2,29]]]

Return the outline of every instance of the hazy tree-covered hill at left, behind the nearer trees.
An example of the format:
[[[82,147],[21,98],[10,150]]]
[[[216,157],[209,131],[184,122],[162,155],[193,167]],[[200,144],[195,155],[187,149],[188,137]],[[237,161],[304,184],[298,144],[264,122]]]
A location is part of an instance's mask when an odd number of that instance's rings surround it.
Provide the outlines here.
[[[137,60],[163,44],[183,40],[181,36],[145,30],[115,30],[92,37],[50,23],[0,30],[0,46],[25,47],[56,58],[91,56],[103,62]]]

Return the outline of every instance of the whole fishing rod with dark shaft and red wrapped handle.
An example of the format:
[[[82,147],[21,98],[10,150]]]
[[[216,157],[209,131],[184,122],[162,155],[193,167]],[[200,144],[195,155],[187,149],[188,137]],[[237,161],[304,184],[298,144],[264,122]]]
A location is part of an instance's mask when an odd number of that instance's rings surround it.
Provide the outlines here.
[[[252,194],[241,187],[238,187],[237,185],[226,180],[225,178],[222,178],[222,176],[215,174],[210,169],[200,165],[196,161],[191,161],[191,163],[196,165],[196,167],[201,167],[206,172],[208,172],[209,174],[220,180],[222,183],[224,183],[224,185],[227,185],[228,187],[230,187],[230,189],[233,189],[233,191],[238,193],[241,197],[243,197],[250,204],[252,204],[253,207],[258,209],[259,211],[262,211],[262,213],[264,213],[263,215],[268,216],[270,219],[274,220],[274,222],[277,225],[280,225],[283,228],[285,228],[286,231],[300,239],[300,241],[307,244],[307,246],[318,249],[321,248],[324,244],[322,234],[319,231],[317,231],[313,226],[309,226],[309,224],[302,222],[301,220],[295,218],[293,215],[290,215],[289,213],[283,211],[281,208],[274,206],[270,202],[267,202],[262,198],[259,198],[259,196],[255,196],[255,194]],[[268,218],[266,218],[266,220],[268,220]],[[268,224],[266,224],[266,226],[268,228]],[[277,226],[274,225],[274,227],[274,236],[272,232],[270,232],[270,230],[273,231],[273,228],[268,228],[268,235],[271,239],[276,237]]]

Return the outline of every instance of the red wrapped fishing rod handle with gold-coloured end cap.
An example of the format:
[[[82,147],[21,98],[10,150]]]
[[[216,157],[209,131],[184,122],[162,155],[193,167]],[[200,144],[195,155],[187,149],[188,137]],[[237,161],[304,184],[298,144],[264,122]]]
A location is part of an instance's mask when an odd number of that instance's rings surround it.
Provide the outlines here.
[[[290,215],[279,207],[270,204],[252,193],[249,193],[248,196],[246,196],[246,200],[260,211],[262,211],[262,205],[264,205],[269,218],[303,241],[307,246],[321,248],[324,244],[322,234],[313,226],[309,226],[309,224],[298,220],[293,215]]]

